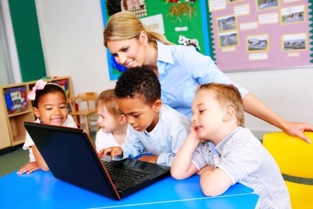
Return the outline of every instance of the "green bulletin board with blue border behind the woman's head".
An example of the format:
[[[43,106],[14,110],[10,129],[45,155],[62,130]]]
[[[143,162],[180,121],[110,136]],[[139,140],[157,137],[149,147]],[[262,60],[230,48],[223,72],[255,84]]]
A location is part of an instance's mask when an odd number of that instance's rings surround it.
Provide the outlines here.
[[[194,46],[200,53],[210,56],[210,23],[208,22],[208,1],[166,2],[167,0],[101,0],[104,26],[110,15],[121,11],[133,11],[143,22],[145,28],[156,30],[174,43]],[[134,2],[136,2],[134,4]],[[178,10],[173,6],[186,5],[191,15],[173,15]],[[212,51],[211,51],[212,52]],[[117,64],[107,50],[110,80],[117,79],[125,70]]]

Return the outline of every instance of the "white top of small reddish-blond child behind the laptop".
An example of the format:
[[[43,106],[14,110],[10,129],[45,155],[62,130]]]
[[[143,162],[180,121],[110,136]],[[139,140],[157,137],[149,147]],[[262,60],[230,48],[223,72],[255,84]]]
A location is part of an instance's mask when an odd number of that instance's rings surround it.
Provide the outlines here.
[[[129,129],[127,127],[125,140],[129,136],[129,133],[130,133]],[[96,144],[97,152],[100,152],[101,149],[104,149],[104,148],[109,148],[109,147],[113,147],[113,146],[114,147],[121,146],[121,144],[119,144],[115,141],[112,132],[104,133],[101,129],[97,132],[95,144]]]

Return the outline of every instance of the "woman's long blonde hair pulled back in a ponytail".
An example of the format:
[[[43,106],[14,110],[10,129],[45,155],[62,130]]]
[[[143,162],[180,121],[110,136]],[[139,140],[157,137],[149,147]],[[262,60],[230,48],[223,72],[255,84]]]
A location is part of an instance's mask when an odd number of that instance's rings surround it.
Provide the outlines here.
[[[110,40],[125,40],[136,38],[139,39],[141,31],[145,31],[148,36],[148,42],[159,41],[163,44],[170,45],[164,35],[153,30],[145,29],[138,17],[131,11],[120,11],[113,14],[103,32],[104,46]]]

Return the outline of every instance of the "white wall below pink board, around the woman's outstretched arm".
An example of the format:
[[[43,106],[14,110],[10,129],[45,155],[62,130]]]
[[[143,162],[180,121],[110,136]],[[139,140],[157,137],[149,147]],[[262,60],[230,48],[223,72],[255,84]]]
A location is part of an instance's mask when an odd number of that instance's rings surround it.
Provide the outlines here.
[[[233,72],[227,76],[286,120],[313,124],[313,67]],[[279,130],[247,113],[245,123],[258,138],[264,132]]]

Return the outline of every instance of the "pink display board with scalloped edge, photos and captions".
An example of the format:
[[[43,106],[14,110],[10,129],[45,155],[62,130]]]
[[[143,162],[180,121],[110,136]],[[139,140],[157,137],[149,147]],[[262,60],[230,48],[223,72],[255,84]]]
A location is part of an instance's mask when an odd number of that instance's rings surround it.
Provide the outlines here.
[[[312,65],[308,0],[209,0],[222,71]]]

